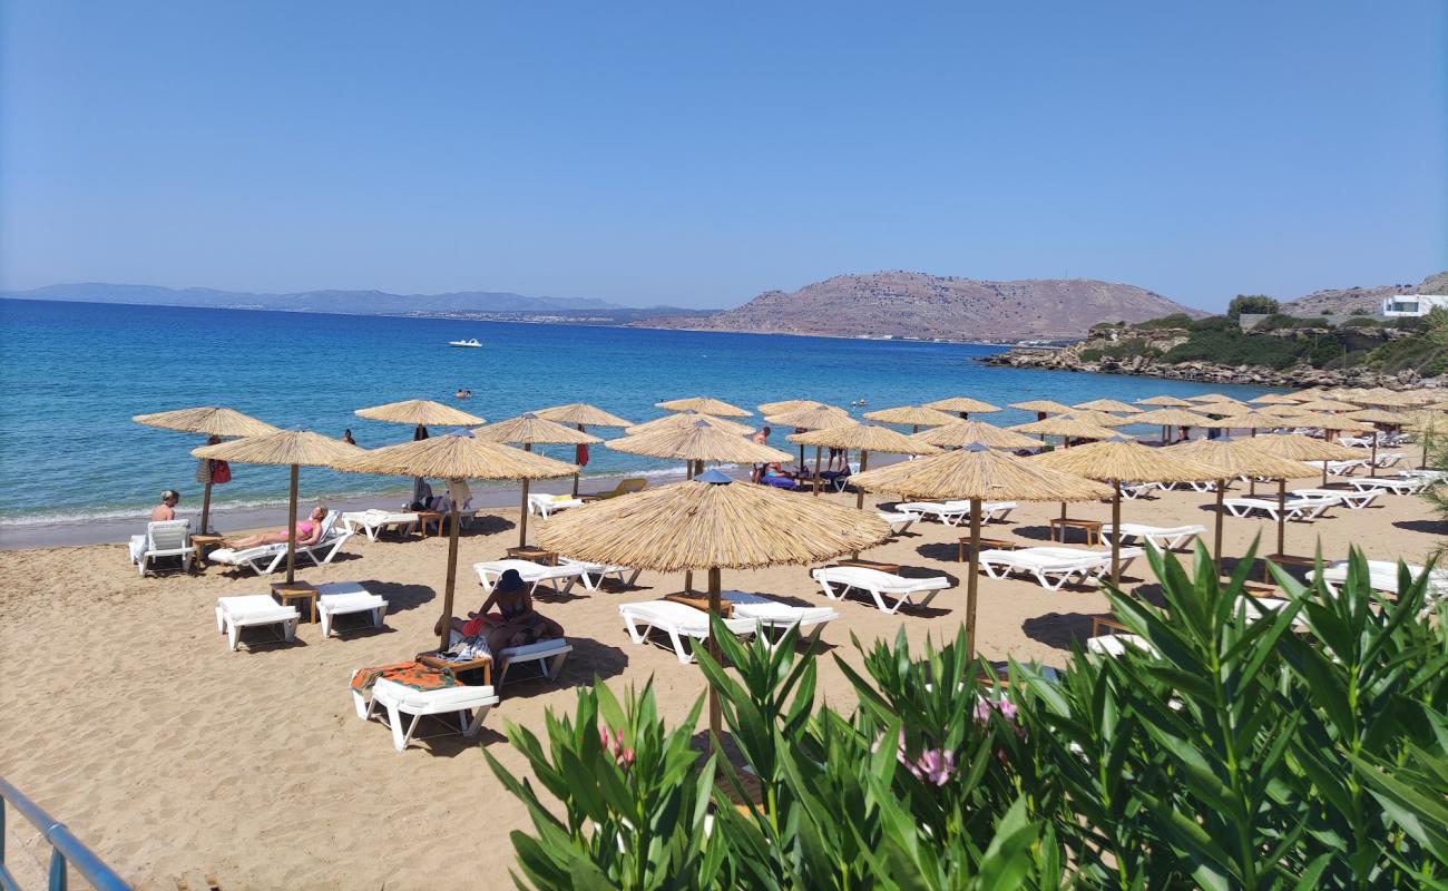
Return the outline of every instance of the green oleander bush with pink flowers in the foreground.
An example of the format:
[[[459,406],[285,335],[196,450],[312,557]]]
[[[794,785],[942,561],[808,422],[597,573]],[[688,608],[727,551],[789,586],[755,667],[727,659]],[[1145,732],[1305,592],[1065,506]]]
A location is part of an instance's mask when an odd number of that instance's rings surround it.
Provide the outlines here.
[[[701,653],[734,759],[691,748],[650,687],[581,690],[544,739],[514,879],[537,888],[1448,887],[1448,608],[1402,571],[1338,593],[1277,572],[1276,608],[1151,551],[1163,607],[1108,590],[1118,658],[1011,664],[964,640],[835,658],[857,704],[818,701],[817,658],[717,626]],[[1274,569],[1276,571],[1276,569]],[[1250,620],[1254,610],[1264,616]],[[856,642],[859,648],[859,642]],[[982,679],[989,678],[989,679]],[[695,740],[696,742],[696,740]],[[736,806],[750,801],[752,806]]]

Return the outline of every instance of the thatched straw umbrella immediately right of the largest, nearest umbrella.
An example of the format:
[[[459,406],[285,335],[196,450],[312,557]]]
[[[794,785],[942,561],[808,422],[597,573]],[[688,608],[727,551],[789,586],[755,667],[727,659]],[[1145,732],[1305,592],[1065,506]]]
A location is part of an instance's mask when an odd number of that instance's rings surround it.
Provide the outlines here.
[[[976,591],[980,568],[980,503],[998,498],[1014,501],[1096,501],[1111,494],[1099,482],[1073,474],[993,452],[973,442],[964,448],[917,461],[892,464],[854,478],[872,493],[898,493],[909,498],[970,500],[970,569],[966,582],[966,658],[976,653]]]

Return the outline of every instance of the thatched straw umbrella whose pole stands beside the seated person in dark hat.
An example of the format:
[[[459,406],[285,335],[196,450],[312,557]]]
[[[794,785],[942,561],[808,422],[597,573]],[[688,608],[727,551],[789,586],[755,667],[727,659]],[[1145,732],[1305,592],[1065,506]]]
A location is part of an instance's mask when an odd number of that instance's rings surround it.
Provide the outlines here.
[[[447,587],[443,593],[440,642],[443,649],[447,648],[453,590],[458,585],[458,511],[462,501],[458,495],[462,493],[456,491],[456,484],[463,480],[552,480],[568,477],[575,469],[572,464],[488,442],[471,432],[416,439],[403,445],[361,452],[340,467],[355,474],[437,477],[447,481],[452,523],[447,536]]]

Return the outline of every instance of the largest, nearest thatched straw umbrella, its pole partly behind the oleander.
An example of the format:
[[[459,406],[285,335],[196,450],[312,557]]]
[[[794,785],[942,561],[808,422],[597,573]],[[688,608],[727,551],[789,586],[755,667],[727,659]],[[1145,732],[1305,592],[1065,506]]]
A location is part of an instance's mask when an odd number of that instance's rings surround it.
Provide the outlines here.
[[[753,445],[753,443],[750,443]],[[656,572],[708,572],[710,614],[720,611],[720,569],[814,564],[859,553],[889,537],[873,514],[734,482],[718,471],[557,514],[539,540],[569,555]],[[717,656],[718,643],[710,639]],[[720,736],[710,688],[710,732]]]

